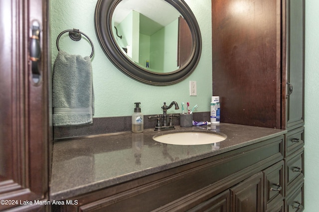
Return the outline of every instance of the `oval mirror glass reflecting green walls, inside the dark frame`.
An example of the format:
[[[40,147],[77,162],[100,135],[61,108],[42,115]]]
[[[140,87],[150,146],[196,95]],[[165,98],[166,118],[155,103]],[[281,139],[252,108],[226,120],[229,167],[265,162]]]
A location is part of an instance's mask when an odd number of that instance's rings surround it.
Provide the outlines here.
[[[118,48],[146,71],[174,72],[191,59],[189,26],[164,0],[122,0],[112,14],[112,26]]]

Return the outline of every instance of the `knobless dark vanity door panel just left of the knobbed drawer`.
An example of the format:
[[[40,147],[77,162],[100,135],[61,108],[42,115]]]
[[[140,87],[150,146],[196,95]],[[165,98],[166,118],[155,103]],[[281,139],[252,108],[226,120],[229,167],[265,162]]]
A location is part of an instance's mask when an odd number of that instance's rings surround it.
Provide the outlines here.
[[[231,212],[262,212],[263,173],[255,174],[230,189]]]

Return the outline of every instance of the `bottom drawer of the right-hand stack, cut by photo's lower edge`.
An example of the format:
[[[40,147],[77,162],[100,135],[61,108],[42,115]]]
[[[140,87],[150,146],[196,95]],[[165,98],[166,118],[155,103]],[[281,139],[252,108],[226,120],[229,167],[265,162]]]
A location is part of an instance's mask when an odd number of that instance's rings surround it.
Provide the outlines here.
[[[304,182],[303,182],[304,183]],[[286,200],[286,212],[302,212],[304,210],[304,184],[290,195]]]

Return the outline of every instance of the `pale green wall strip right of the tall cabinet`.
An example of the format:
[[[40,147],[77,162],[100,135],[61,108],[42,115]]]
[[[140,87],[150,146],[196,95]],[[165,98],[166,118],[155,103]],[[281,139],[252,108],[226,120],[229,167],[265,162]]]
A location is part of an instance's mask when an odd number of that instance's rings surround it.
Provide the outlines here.
[[[319,200],[319,1],[306,0],[305,211],[318,211]]]

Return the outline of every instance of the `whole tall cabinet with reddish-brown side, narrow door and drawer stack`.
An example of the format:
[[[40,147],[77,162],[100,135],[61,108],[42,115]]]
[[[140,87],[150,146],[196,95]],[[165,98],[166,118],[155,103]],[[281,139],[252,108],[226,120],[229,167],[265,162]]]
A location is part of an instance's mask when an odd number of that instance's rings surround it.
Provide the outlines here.
[[[212,0],[213,94],[220,96],[221,121],[287,129],[274,211],[302,211],[305,0],[243,0],[244,9],[235,3]]]

